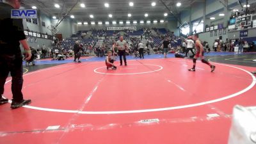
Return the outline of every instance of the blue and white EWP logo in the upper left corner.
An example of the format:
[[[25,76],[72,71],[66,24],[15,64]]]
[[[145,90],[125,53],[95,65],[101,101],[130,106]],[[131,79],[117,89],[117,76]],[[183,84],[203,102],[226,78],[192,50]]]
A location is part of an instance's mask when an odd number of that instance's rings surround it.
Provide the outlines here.
[[[33,9],[28,9],[28,10],[13,9],[11,12],[11,18],[12,19],[26,19],[26,18],[36,19],[37,14],[36,14],[36,10],[33,10]]]

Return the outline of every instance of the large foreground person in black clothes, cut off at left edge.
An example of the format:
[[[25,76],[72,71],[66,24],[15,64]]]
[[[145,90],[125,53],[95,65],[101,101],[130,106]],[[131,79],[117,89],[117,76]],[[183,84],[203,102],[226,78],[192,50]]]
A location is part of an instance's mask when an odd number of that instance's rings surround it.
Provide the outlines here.
[[[23,67],[20,44],[25,50],[25,60],[31,59],[31,50],[24,35],[22,19],[11,19],[11,10],[20,8],[20,0],[5,0],[0,3],[0,104],[8,99],[3,97],[4,84],[9,72],[12,76],[11,108],[20,108],[31,103],[24,100],[22,90]]]

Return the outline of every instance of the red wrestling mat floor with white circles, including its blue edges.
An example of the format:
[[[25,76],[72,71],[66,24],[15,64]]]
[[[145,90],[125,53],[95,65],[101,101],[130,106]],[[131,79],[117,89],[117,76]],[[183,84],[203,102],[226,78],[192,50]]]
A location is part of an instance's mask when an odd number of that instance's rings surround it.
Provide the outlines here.
[[[212,73],[200,61],[189,72],[192,60],[173,57],[129,56],[117,70],[104,58],[36,61],[24,67],[32,103],[0,106],[0,143],[227,143],[232,108],[256,105],[256,53],[210,52]],[[4,95],[12,99],[10,81]]]

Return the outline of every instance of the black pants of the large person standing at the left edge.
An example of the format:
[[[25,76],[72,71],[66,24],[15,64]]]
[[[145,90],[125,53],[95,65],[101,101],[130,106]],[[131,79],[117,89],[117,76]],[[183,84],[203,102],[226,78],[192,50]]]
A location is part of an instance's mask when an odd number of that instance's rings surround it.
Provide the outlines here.
[[[12,76],[12,94],[13,101],[20,102],[23,100],[22,84],[23,84],[23,68],[21,54],[6,55],[0,54],[0,97],[4,93],[4,83],[9,72]]]

